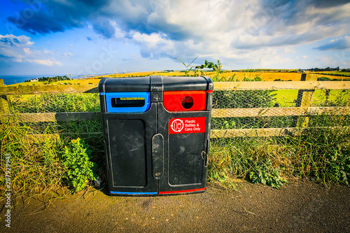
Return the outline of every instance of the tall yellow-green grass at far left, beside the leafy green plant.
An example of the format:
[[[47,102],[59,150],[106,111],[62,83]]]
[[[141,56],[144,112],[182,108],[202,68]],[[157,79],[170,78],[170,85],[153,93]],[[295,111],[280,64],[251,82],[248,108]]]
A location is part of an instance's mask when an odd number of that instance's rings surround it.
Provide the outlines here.
[[[50,138],[32,141],[28,137],[32,130],[29,126],[22,126],[13,120],[1,123],[1,158],[6,154],[11,155],[11,189],[17,194],[27,193],[31,196],[62,187],[62,175],[66,169],[59,161],[58,153],[64,141]],[[1,166],[1,169],[0,183],[3,188],[4,167]]]

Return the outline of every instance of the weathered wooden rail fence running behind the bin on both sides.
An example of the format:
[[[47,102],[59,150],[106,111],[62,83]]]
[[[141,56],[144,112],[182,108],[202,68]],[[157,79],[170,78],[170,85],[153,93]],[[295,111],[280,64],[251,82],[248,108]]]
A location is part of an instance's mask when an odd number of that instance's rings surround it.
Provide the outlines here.
[[[262,81],[262,82],[216,82],[217,90],[298,90],[295,107],[275,108],[214,108],[213,118],[232,117],[262,117],[262,116],[300,116],[302,126],[307,127],[308,116],[323,113],[349,115],[350,107],[314,107],[308,106],[314,90],[349,90],[349,81],[316,81],[314,75],[301,75],[301,81]],[[4,86],[0,80],[0,122],[14,118],[13,114],[6,112],[8,107],[7,96],[13,94],[44,94],[44,93],[97,93],[97,85],[38,85],[38,86]],[[7,108],[6,108],[7,107]],[[18,113],[16,120],[22,122],[56,122],[101,120],[99,112],[80,113]],[[267,129],[212,129],[212,138],[235,136],[284,136],[297,132],[297,127],[267,128]]]

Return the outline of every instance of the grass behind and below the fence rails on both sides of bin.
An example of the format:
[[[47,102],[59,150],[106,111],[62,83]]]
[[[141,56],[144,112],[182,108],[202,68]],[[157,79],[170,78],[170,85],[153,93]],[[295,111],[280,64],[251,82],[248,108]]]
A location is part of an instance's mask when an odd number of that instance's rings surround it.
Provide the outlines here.
[[[314,92],[315,106],[347,106],[349,90]],[[267,108],[295,106],[297,90],[215,91],[215,108]],[[41,94],[8,97],[11,113],[49,113],[100,111],[98,94]],[[288,178],[310,178],[322,183],[349,185],[349,115],[314,115],[308,129],[296,136],[212,139],[209,155],[211,183],[235,188],[240,179],[264,183],[274,188]],[[212,129],[254,129],[293,127],[297,117],[213,118]],[[323,128],[320,128],[323,127]],[[347,129],[349,130],[349,129]],[[12,188],[18,193],[36,195],[59,187],[69,168],[64,166],[62,151],[71,139],[84,138],[92,150],[90,160],[97,163],[96,174],[104,177],[104,136],[102,121],[79,122],[1,122],[1,156],[13,155]],[[62,136],[70,135],[69,137]],[[55,140],[30,141],[31,134],[61,134]],[[2,167],[1,187],[5,181]]]

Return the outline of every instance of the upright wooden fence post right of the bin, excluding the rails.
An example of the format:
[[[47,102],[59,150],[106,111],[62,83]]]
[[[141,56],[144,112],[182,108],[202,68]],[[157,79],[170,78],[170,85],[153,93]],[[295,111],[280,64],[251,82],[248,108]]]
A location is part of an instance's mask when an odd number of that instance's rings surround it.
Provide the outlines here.
[[[302,73],[300,81],[317,81],[317,74],[314,73]],[[308,107],[312,104],[315,90],[298,90],[296,107]],[[309,117],[297,118],[297,127],[307,127],[309,123]]]

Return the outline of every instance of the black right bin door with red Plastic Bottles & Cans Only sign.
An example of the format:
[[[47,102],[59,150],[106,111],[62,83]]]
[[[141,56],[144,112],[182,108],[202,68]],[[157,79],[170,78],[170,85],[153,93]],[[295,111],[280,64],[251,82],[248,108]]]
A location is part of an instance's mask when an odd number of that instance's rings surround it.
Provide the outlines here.
[[[158,129],[164,136],[164,176],[159,194],[196,192],[207,183],[207,138],[210,113],[170,113],[158,108]]]

